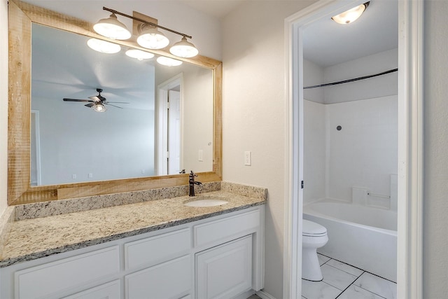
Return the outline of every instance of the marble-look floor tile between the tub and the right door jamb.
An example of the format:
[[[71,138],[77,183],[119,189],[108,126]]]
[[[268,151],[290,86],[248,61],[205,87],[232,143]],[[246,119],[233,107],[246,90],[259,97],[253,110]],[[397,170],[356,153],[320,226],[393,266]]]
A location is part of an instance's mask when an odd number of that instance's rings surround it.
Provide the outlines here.
[[[397,284],[395,282],[377,277],[368,272],[364,272],[356,279],[354,284],[387,299],[397,298]]]

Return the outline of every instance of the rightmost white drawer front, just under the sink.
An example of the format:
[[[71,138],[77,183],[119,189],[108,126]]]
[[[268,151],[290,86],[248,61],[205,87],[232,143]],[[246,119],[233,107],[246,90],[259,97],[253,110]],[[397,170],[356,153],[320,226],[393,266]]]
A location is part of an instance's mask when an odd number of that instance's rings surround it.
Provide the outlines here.
[[[244,214],[211,221],[194,227],[195,246],[222,243],[226,238],[236,239],[248,235],[260,226],[260,211],[250,211]]]

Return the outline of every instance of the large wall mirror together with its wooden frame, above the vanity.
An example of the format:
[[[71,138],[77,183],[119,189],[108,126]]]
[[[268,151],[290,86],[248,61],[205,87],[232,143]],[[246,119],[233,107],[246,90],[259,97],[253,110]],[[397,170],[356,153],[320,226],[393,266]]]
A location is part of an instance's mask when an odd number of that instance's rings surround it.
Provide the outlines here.
[[[48,72],[50,65],[48,60],[50,57],[54,58],[55,54],[41,53],[40,59],[36,59],[33,52],[31,68],[31,40],[33,41],[33,51],[38,48],[37,41],[34,41],[38,37],[34,36],[34,32],[39,32],[39,29],[36,28],[41,28],[43,31],[57,30],[61,34],[74,35],[76,38],[82,39],[85,39],[85,36],[104,38],[92,32],[90,29],[92,24],[88,22],[31,4],[10,1],[8,10],[10,35],[9,204],[186,185],[188,184],[188,174],[173,174],[183,165],[187,172],[190,169],[200,172],[202,182],[221,180],[221,62],[202,56],[193,59],[175,57],[178,60],[183,60],[183,69],[172,67],[164,71],[157,64],[141,63],[130,57],[123,57],[127,60],[127,65],[130,63],[140,67],[137,67],[138,71],[132,69],[125,75],[120,75],[120,77],[130,78],[127,83],[109,76],[116,73],[111,69],[113,64],[110,61],[99,63],[102,66],[106,65],[109,69],[106,68],[107,70],[98,72],[90,71],[87,74],[70,70],[92,68],[89,63],[64,64],[64,67],[59,70],[51,69]],[[31,36],[31,31],[33,36]],[[50,35],[53,34],[57,35],[55,33]],[[140,48],[133,41],[116,41],[116,43],[125,49],[147,50]],[[42,48],[48,47],[49,44],[50,41],[46,45],[44,41]],[[61,44],[64,45],[64,43],[59,43],[59,46]],[[65,47],[67,47],[66,44]],[[93,52],[93,50],[90,51]],[[122,52],[124,53],[123,50]],[[152,52],[155,55],[174,58],[165,51],[155,50]],[[45,57],[45,54],[50,54],[50,56],[46,55]],[[70,60],[68,55],[66,58]],[[104,56],[101,53],[93,55]],[[109,58],[106,57],[107,59]],[[95,58],[95,61],[99,60]],[[114,64],[121,65],[121,60],[118,61],[116,58],[113,60]],[[121,69],[127,69],[127,67],[121,67]],[[141,71],[144,72],[143,75]],[[148,79],[150,83],[144,86],[144,90],[137,90],[136,86],[141,87],[141,84],[137,83],[141,77],[150,78]],[[62,81],[62,78],[71,78],[71,81]],[[203,79],[211,84],[207,88],[198,88],[197,86],[200,86],[198,84]],[[169,165],[164,166],[162,162],[166,157],[164,156],[165,148],[160,144],[164,144],[167,137],[161,133],[164,115],[163,111],[158,109],[162,104],[158,103],[162,101],[162,96],[165,97],[165,94],[169,93],[169,90],[179,88],[177,86],[179,84],[181,84],[181,92],[183,92],[181,97],[183,111],[181,111],[179,120],[181,125],[178,126],[181,136],[178,139],[178,143],[181,144],[179,147],[180,167],[172,167],[170,172]],[[196,87],[195,84],[197,84]],[[101,95],[106,97],[108,102],[123,103],[109,103],[107,111],[97,113],[84,106],[88,104],[87,102],[62,101],[64,97],[89,100],[89,97],[98,95],[97,88],[103,89]],[[187,102],[204,101],[204,97],[209,97],[206,100],[209,101],[207,104],[197,104],[201,102],[189,104]],[[57,110],[60,107],[64,109],[64,112]],[[125,113],[131,111],[139,113],[139,117],[125,116]],[[120,118],[122,122],[120,124],[113,122],[113,116]],[[61,123],[55,123],[55,119],[59,119]],[[123,121],[125,119],[128,121]],[[125,127],[123,123],[132,123],[131,119],[134,120],[132,124],[134,127]],[[208,121],[209,125],[204,125],[202,120]],[[143,124],[139,122],[146,122],[148,126],[143,129]],[[144,145],[145,153],[139,148],[141,144],[136,145],[130,142],[132,139],[130,132],[137,134],[137,128],[144,130],[141,134],[148,136]],[[202,129],[205,131],[198,131]],[[113,134],[109,134],[108,130]],[[118,132],[120,130],[123,132]],[[56,134],[57,131],[59,132]],[[197,134],[198,132],[199,134]],[[105,143],[105,139],[113,139],[112,136],[118,135],[125,136],[127,139],[125,141],[115,140],[116,144]],[[84,139],[86,136],[88,139]],[[102,140],[102,142],[94,145],[95,139]],[[135,139],[141,141],[141,137]],[[121,159],[125,159],[124,162],[123,160],[117,162],[114,160],[117,157],[113,153],[117,151],[118,146],[123,144],[127,145],[127,150],[123,151],[127,152],[127,160],[122,157]],[[80,155],[80,157],[76,157],[78,160],[74,159],[76,162],[73,162],[73,155],[64,161],[67,158],[64,156],[70,151]],[[99,155],[94,155],[94,153],[99,153]],[[141,153],[143,155],[140,155]],[[203,161],[199,161],[201,154]],[[125,170],[123,165],[132,164],[130,162],[132,159],[139,162],[133,162],[134,166],[139,165],[138,168],[135,166],[132,171]],[[207,159],[209,160],[208,164],[205,163]],[[96,170],[92,170],[92,167],[96,167],[95,163],[98,160],[102,160],[103,164],[95,168]],[[39,161],[40,163],[38,163]],[[202,162],[202,165],[198,162]],[[88,167],[87,169],[79,168],[80,170],[73,168],[80,164],[90,165],[90,169]],[[121,166],[118,170],[103,171],[106,167],[114,164]],[[202,167],[203,165],[204,167]],[[39,169],[40,179],[37,175]],[[43,175],[44,173],[45,175]],[[56,175],[54,175],[55,173]],[[62,173],[64,179],[60,180]],[[122,174],[124,176],[121,176]],[[33,177],[32,180],[31,177]],[[46,177],[51,177],[51,179],[45,179]],[[31,186],[31,184],[36,186]]]

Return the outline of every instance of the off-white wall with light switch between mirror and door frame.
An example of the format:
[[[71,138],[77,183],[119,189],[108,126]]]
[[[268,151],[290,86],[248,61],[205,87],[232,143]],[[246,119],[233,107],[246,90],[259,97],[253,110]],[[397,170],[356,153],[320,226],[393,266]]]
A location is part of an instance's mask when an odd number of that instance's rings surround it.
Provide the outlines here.
[[[223,20],[223,179],[268,188],[265,291],[278,299],[288,200],[284,19],[313,2],[246,1]]]

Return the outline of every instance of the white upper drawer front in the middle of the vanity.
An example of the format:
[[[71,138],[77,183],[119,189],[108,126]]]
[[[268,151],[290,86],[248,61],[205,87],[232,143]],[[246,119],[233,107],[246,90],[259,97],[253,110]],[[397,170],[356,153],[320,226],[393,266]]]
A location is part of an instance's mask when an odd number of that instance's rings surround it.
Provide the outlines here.
[[[125,267],[155,265],[187,253],[191,248],[190,229],[176,230],[163,235],[125,244]]]

